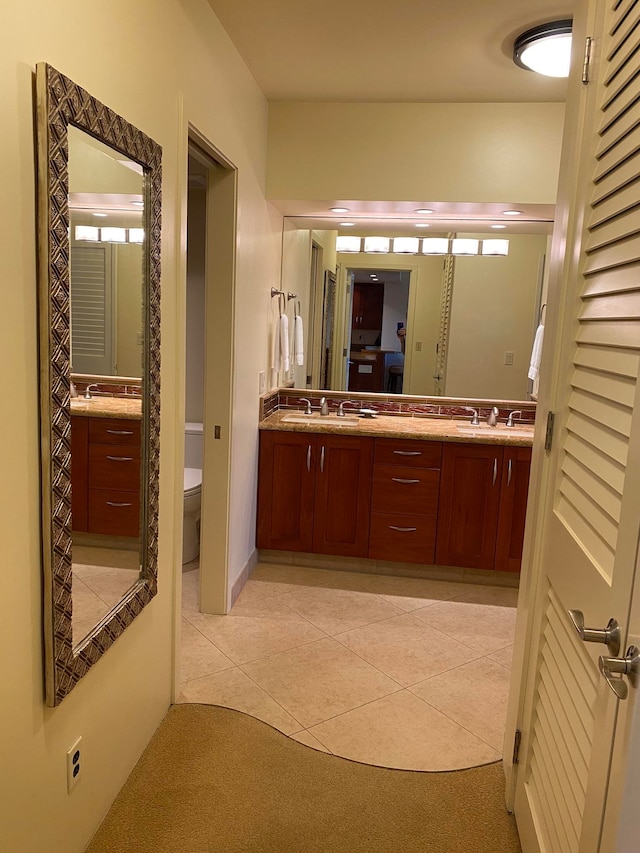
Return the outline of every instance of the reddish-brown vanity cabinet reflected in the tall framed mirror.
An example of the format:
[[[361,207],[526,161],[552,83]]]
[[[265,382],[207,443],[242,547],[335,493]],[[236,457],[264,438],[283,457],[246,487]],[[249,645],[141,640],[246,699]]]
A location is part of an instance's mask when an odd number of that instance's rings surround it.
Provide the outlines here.
[[[140,421],[73,416],[73,529],[140,535]]]

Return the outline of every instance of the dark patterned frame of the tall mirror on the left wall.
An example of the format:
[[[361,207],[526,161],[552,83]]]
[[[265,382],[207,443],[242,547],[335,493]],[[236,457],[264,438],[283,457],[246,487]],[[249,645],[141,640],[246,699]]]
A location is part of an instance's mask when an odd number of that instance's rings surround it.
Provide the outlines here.
[[[162,149],[46,63],[36,68],[42,563],[45,695],[59,705],[157,592],[160,458],[160,227]],[[138,581],[73,646],[69,177],[73,125],[139,163],[145,174],[141,557]]]

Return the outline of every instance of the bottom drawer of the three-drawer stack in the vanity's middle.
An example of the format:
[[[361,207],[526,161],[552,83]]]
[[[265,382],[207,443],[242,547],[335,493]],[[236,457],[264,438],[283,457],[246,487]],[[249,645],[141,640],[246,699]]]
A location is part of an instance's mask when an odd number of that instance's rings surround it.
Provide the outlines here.
[[[431,565],[435,547],[435,518],[380,512],[371,515],[369,557],[372,559]]]

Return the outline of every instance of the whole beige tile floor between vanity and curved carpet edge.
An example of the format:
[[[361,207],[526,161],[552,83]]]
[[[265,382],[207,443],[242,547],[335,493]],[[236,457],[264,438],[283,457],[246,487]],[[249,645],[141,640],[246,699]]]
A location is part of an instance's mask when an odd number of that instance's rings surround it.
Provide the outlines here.
[[[501,757],[516,589],[263,563],[211,616],[198,575],[183,575],[178,702],[384,767]]]

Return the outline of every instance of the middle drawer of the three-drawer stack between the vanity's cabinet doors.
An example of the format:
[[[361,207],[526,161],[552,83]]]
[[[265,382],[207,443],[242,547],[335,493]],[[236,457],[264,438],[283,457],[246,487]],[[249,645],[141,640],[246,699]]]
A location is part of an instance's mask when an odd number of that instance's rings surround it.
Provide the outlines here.
[[[376,465],[371,507],[373,512],[435,517],[439,489],[440,471],[437,469]]]

